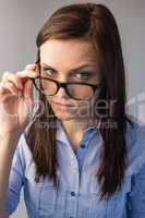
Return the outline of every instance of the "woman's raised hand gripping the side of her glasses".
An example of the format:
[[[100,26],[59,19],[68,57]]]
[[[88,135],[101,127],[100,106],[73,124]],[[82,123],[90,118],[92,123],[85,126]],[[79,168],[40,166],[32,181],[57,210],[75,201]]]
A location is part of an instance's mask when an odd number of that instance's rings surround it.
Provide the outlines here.
[[[33,84],[37,64],[17,73],[4,72],[0,82],[0,135],[22,133],[33,111]]]

